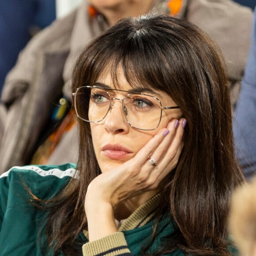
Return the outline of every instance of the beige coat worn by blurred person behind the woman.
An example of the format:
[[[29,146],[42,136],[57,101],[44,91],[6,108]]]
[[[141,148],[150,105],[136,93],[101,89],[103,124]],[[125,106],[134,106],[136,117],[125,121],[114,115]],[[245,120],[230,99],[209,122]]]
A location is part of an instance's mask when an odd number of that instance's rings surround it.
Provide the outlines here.
[[[250,43],[252,11],[231,0],[187,1],[183,2],[186,19],[217,41],[228,65],[230,81],[241,81]],[[83,47],[107,28],[107,24],[102,28],[97,19],[90,19],[86,10],[85,1],[77,11],[35,36],[8,74],[0,106],[0,173],[11,166],[29,164],[56,97],[64,93],[72,100],[71,74],[75,60]],[[64,134],[48,163],[76,162],[77,157],[75,126]]]

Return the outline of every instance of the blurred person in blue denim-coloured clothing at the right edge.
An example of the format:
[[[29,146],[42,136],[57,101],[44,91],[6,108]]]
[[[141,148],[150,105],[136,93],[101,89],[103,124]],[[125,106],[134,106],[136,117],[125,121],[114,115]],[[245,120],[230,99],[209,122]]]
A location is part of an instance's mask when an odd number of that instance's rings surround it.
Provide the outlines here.
[[[248,179],[256,173],[256,9],[251,38],[245,76],[233,120],[236,154]]]

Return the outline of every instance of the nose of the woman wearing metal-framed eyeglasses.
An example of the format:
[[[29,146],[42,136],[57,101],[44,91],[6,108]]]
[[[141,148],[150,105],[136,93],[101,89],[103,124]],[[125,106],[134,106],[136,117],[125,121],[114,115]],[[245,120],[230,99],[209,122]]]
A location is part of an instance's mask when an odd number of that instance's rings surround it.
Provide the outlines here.
[[[113,133],[127,133],[130,125],[127,123],[122,110],[121,101],[113,101],[113,105],[109,113],[105,117],[105,128]]]

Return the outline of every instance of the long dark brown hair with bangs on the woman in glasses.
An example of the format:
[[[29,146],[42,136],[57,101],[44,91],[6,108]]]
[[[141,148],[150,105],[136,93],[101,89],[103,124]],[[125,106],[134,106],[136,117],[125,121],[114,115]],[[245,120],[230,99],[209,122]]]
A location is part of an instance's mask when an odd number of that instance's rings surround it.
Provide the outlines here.
[[[229,88],[218,47],[184,19],[169,15],[127,18],[92,41],[80,55],[73,91],[93,85],[106,67],[117,87],[117,68],[121,67],[132,87],[143,84],[162,90],[181,107],[188,121],[183,152],[158,207],[158,217],[169,211],[177,222],[177,237],[168,237],[155,254],[181,248],[196,255],[229,255],[226,217],[230,195],[244,178],[234,155]],[[78,123],[79,179],[72,179],[50,202],[46,223],[49,244],[66,254],[79,252],[75,243],[87,227],[87,186],[101,173],[90,124]]]

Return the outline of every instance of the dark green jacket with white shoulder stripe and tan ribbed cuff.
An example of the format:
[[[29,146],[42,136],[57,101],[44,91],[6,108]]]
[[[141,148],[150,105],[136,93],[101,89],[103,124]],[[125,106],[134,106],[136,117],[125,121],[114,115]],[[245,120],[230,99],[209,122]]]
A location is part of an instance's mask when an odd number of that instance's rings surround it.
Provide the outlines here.
[[[75,164],[61,166],[23,166],[13,167],[0,176],[0,255],[1,256],[41,256],[42,247],[47,248],[45,236],[38,230],[47,211],[36,209],[30,202],[31,192],[41,199],[56,194],[75,173]],[[158,203],[159,195],[140,206],[121,226],[119,232],[88,242],[87,231],[79,235],[84,241],[83,255],[140,255],[144,242],[151,238],[154,226],[152,212]],[[170,219],[159,223],[158,235],[151,251],[158,248],[162,239],[174,233]],[[43,246],[42,246],[43,245]],[[49,252],[47,255],[53,255]],[[63,255],[63,254],[62,254]],[[172,256],[184,256],[177,250]]]

